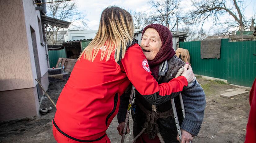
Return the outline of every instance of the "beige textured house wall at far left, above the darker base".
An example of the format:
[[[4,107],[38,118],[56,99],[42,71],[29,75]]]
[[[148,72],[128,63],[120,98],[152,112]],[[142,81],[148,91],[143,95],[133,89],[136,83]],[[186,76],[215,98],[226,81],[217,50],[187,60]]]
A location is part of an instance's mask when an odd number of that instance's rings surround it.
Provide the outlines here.
[[[22,0],[1,0],[0,6],[0,91],[33,88]]]

